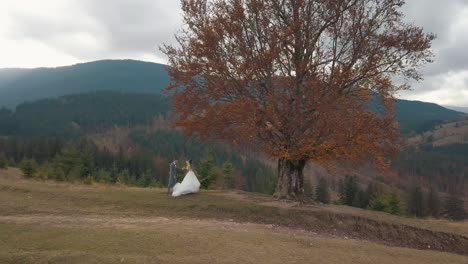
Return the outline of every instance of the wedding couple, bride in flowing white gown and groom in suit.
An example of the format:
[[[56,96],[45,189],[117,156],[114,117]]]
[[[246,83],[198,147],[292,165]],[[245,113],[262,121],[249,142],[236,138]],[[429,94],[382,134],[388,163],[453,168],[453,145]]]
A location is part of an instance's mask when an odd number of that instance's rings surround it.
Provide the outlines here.
[[[192,170],[192,160],[186,162],[185,169],[187,170],[187,174],[180,183],[176,183],[177,162],[177,160],[174,160],[169,167],[169,184],[167,186],[167,195],[170,194],[171,188],[173,197],[198,192],[200,189],[200,182]]]

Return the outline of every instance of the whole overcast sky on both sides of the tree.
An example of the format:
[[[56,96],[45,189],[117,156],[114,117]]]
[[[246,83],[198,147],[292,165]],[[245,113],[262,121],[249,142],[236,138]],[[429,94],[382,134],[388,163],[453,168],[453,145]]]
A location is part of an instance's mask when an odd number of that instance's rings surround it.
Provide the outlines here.
[[[437,35],[435,63],[401,97],[468,106],[468,0],[407,0],[407,18]],[[0,0],[0,68],[100,59],[165,62],[178,0]]]

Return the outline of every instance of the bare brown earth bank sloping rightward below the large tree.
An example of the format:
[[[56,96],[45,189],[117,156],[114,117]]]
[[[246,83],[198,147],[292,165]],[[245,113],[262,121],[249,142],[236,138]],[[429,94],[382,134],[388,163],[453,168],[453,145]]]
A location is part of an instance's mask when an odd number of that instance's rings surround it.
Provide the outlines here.
[[[269,196],[250,195],[241,191],[220,192],[214,195],[232,200],[250,202],[260,206],[280,208],[305,215],[308,219],[290,227],[305,228],[320,235],[339,238],[369,240],[388,246],[440,250],[468,255],[466,230],[448,223],[398,217],[382,212],[339,205],[299,204],[278,201]],[[466,226],[461,225],[461,229]],[[453,228],[449,228],[453,227]]]

